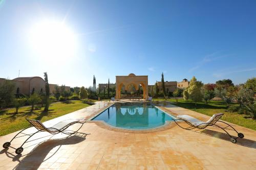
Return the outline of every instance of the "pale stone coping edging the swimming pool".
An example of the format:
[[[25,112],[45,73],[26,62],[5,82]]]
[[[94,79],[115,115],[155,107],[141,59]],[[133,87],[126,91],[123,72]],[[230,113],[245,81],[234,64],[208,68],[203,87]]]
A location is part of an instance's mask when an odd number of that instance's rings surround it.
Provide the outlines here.
[[[90,118],[87,119],[87,123],[95,123],[96,125],[98,125],[99,127],[103,128],[103,129],[109,129],[109,130],[113,130],[113,131],[118,131],[118,132],[124,132],[124,133],[152,133],[152,132],[158,132],[158,131],[163,131],[163,130],[167,130],[171,127],[173,127],[175,124],[173,121],[171,120],[165,120],[165,124],[155,127],[155,128],[148,128],[148,129],[125,129],[125,128],[119,128],[119,127],[115,127],[112,125],[109,125],[108,123],[104,122],[104,120],[92,120],[93,118],[97,117],[99,114],[101,114],[103,111],[105,111],[106,109],[110,108],[112,105],[119,103],[119,102],[114,102],[110,105],[108,105],[107,107],[104,107],[102,109],[100,109],[97,114],[91,116]],[[132,102],[125,102],[125,103],[132,103]],[[140,102],[140,103],[147,103],[147,102]],[[163,109],[161,109],[159,106],[156,106],[154,103],[151,103],[151,105],[153,105],[154,107],[156,107],[157,109],[161,110],[162,112],[164,112],[165,114],[169,115],[172,118],[176,117],[166,111],[164,111]]]

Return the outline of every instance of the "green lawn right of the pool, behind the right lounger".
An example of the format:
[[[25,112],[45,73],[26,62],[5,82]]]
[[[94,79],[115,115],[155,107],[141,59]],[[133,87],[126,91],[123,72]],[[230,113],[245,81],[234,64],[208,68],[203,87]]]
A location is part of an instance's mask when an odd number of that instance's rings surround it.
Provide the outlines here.
[[[163,99],[155,99],[154,101],[164,101]],[[227,109],[227,105],[225,102],[221,101],[210,101],[210,103],[206,104],[204,102],[197,103],[197,107],[195,103],[192,101],[184,101],[183,99],[178,99],[178,103],[176,103],[175,99],[168,99],[167,101],[174,102],[173,105],[186,108],[189,110],[193,110],[208,116],[212,116],[215,113],[224,113],[222,116],[222,120],[226,122],[243,126],[248,129],[256,130],[256,120],[250,118],[249,115],[239,114],[238,112],[230,112]],[[237,104],[231,104],[237,105]],[[237,105],[238,106],[238,105]]]

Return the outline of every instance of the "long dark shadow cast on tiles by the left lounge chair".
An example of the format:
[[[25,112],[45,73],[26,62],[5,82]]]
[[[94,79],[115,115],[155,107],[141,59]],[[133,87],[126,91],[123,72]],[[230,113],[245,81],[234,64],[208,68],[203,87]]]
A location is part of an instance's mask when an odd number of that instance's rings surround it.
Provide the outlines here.
[[[14,169],[33,168],[37,169],[42,162],[51,159],[62,145],[77,144],[83,140],[86,140],[87,134],[76,133],[65,138],[60,139],[48,139],[40,142],[30,153],[28,153],[22,160],[22,154],[12,154],[8,152],[8,148],[0,151],[0,154],[6,154],[7,157],[12,158],[12,161],[18,161],[19,163]],[[54,149],[55,152],[50,153]]]

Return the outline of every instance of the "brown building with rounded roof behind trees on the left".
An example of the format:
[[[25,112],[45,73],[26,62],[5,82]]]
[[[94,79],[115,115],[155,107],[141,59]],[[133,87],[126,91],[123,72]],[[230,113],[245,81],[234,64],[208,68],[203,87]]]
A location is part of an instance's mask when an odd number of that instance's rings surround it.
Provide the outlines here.
[[[6,79],[0,78],[0,83]],[[11,80],[15,84],[15,93],[30,95],[32,93],[45,92],[45,80],[40,77],[19,77]],[[50,93],[55,90],[56,84],[49,84]],[[65,86],[65,90],[70,90],[69,86]]]

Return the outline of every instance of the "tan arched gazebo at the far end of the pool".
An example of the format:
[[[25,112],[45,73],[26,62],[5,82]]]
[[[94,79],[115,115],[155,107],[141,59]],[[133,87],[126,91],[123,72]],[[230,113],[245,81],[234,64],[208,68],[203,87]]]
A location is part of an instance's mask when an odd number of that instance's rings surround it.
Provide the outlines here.
[[[131,73],[128,76],[116,76],[116,99],[121,98],[121,88],[124,85],[125,89],[133,84],[136,90],[141,85],[143,88],[143,99],[148,99],[148,87],[147,87],[147,76],[136,76]]]

